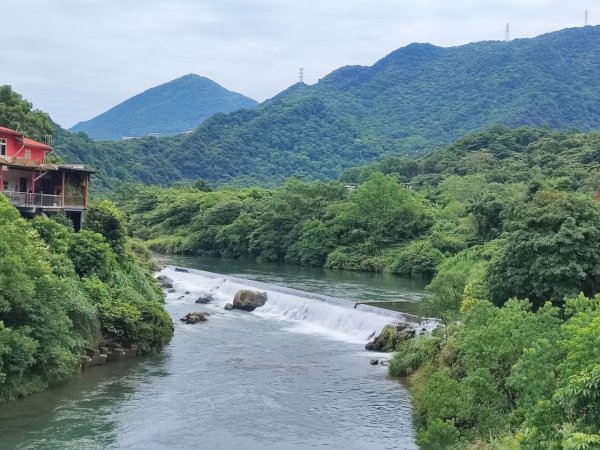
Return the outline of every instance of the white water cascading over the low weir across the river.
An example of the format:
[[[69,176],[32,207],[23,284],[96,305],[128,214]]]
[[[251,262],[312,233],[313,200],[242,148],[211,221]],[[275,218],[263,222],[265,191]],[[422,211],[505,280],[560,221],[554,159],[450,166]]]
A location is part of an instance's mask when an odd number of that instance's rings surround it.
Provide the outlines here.
[[[202,270],[185,270],[187,272],[176,271],[174,267],[168,266],[162,273],[173,279],[178,290],[190,292],[188,302],[193,302],[196,294],[210,293],[215,299],[213,306],[222,308],[233,301],[235,293],[240,289],[264,291],[267,293],[267,303],[257,308],[253,314],[288,321],[292,325],[291,331],[319,333],[336,339],[366,343],[389,323],[409,322],[415,326],[420,323],[417,316],[356,304],[341,298]]]

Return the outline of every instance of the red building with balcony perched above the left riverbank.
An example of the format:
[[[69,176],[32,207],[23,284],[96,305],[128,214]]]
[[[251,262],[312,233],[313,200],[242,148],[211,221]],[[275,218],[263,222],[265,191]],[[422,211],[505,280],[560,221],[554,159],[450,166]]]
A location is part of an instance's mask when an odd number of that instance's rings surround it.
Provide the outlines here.
[[[52,147],[0,127],[0,192],[24,216],[64,211],[80,229],[90,175],[82,165],[50,164]]]

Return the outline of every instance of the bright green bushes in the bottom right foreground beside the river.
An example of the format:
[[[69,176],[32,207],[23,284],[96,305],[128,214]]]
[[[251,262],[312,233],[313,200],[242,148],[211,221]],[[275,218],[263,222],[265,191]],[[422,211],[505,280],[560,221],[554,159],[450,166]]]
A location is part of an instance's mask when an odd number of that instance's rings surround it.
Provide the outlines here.
[[[473,300],[460,326],[401,343],[390,369],[411,376],[420,447],[597,448],[599,302]]]

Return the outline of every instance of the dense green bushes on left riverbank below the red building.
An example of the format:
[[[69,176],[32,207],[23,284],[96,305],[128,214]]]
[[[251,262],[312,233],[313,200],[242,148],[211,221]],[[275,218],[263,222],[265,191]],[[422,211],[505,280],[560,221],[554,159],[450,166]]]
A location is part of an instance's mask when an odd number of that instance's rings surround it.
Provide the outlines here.
[[[60,221],[28,222],[0,196],[0,402],[78,371],[79,354],[102,341],[152,351],[172,335],[160,289],[132,253],[117,258],[102,234]]]

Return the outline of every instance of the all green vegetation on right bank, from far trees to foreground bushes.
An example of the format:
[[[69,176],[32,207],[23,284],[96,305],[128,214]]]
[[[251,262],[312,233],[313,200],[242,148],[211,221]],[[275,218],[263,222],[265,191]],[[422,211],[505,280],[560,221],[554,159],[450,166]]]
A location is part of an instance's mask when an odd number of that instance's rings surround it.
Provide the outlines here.
[[[600,133],[493,127],[341,181],[134,186],[119,203],[158,251],[431,279],[423,313],[444,325],[390,366],[409,377],[421,448],[594,449],[599,148]]]

